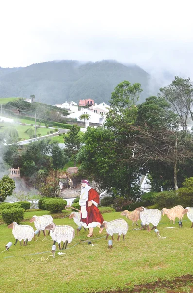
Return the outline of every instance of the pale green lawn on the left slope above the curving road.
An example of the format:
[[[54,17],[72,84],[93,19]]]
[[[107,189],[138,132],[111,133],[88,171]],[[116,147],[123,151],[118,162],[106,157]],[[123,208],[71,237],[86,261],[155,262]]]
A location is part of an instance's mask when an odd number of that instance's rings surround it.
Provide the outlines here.
[[[7,127],[14,127],[15,129],[17,129],[18,134],[19,134],[19,138],[21,138],[21,140],[25,140],[25,139],[30,138],[30,136],[27,133],[25,133],[25,131],[29,127],[33,127],[33,126],[21,125],[18,123],[13,124],[13,123],[9,123],[9,122],[0,122],[0,132],[3,132]],[[49,128],[38,128],[38,129],[36,129],[36,136],[38,137],[38,133],[41,133],[41,136],[47,135],[47,132],[50,130],[51,129],[49,129]]]

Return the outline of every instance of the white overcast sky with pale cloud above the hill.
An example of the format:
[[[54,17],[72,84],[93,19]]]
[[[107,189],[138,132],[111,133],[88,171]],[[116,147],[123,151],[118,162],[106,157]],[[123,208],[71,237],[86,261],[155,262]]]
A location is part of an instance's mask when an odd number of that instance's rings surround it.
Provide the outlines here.
[[[1,0],[0,66],[135,63],[193,78],[192,0]]]

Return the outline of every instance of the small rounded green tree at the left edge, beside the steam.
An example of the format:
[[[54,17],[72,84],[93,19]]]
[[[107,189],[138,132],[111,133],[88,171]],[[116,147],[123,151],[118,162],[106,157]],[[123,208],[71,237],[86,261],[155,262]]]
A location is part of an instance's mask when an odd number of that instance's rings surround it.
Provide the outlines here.
[[[15,188],[15,182],[8,175],[4,175],[0,179],[0,203],[3,202],[7,196],[11,196]]]

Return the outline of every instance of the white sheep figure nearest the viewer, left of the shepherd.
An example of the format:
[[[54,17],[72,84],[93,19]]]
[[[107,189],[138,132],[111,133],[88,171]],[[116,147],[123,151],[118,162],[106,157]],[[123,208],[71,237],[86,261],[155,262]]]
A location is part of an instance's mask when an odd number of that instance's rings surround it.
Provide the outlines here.
[[[74,236],[75,236],[74,229],[68,225],[55,225],[54,223],[51,223],[45,227],[45,230],[50,230],[50,236],[53,240],[53,244],[57,242],[59,245],[59,249],[61,249],[60,243],[62,241],[63,241],[62,249],[66,249],[67,244],[72,242],[72,239],[74,239]],[[65,245],[65,248],[64,248],[64,245]]]

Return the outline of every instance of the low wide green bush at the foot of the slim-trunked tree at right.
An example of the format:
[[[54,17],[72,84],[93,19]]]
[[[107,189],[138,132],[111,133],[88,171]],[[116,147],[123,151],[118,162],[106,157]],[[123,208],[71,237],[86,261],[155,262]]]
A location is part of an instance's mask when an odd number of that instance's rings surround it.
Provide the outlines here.
[[[176,195],[175,191],[162,191],[155,193],[153,196],[153,203],[159,204],[159,208],[170,209],[179,204],[179,197]]]

